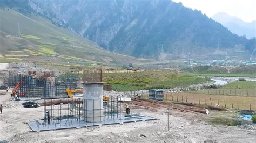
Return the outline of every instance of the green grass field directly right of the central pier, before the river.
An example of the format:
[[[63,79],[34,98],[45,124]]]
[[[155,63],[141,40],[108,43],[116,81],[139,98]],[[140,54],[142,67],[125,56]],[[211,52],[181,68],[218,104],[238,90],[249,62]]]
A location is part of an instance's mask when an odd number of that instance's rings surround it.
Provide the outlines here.
[[[181,75],[172,72],[145,71],[139,73],[103,74],[103,81],[112,85],[113,90],[134,91],[143,89],[167,89],[185,87],[206,82],[206,78]]]

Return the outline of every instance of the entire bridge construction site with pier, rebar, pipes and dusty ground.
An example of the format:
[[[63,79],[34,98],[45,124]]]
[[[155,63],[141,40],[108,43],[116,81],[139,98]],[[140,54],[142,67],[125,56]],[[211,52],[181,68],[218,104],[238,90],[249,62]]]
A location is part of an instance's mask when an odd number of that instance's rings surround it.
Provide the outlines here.
[[[185,97],[178,102],[178,96],[176,102],[161,89],[127,96],[109,90],[102,69],[59,73],[26,68],[21,74],[13,67],[1,70],[8,91],[0,90],[0,142],[256,140],[255,124],[208,123],[216,116],[233,116],[233,109],[197,105]]]

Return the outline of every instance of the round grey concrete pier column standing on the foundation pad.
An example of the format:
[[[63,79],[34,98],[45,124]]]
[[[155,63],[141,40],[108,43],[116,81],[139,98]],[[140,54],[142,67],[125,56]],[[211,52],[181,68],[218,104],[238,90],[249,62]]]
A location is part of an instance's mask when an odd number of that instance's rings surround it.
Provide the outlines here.
[[[100,122],[104,119],[103,82],[81,83],[84,89],[84,121]]]

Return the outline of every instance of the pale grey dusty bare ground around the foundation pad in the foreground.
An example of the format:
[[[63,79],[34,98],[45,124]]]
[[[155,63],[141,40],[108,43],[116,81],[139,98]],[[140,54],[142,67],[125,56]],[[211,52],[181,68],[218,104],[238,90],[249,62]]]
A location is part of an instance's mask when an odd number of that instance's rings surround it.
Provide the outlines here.
[[[21,102],[9,102],[10,94],[0,96],[0,142],[254,142],[255,128],[213,126],[205,123],[209,115],[171,110],[167,131],[166,109],[151,110],[130,105],[132,113],[142,113],[158,120],[105,125],[56,131],[31,131],[26,124],[43,117],[43,107],[23,108]]]

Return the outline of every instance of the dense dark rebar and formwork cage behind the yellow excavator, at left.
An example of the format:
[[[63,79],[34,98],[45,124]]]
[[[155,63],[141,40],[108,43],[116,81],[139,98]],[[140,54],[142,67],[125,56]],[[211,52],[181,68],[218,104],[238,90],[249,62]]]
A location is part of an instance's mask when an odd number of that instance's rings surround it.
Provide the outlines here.
[[[8,85],[17,89],[17,98],[65,98],[67,88],[79,87],[79,74],[69,72],[56,77],[54,71],[44,71],[42,75],[35,71],[29,71],[29,75],[9,71]]]

